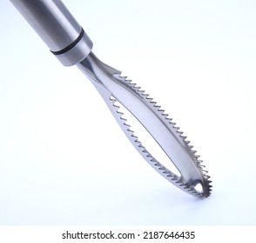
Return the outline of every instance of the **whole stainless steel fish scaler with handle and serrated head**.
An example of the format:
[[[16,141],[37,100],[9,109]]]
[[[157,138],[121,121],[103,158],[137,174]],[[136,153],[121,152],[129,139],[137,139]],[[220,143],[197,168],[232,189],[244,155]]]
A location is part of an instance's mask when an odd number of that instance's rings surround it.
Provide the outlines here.
[[[92,52],[91,39],[83,28],[71,16],[69,10],[60,0],[10,0],[24,16],[31,27],[41,36],[53,55],[64,66],[77,65],[85,76],[94,84],[112,115],[125,132],[125,135],[159,174],[173,185],[188,194],[200,198],[211,194],[212,181],[204,170],[199,155],[192,150],[190,141],[186,140],[172,119],[165,115],[156,102],[145,91],[130,80],[121,76],[121,72],[98,60]],[[143,125],[158,146],[179,170],[174,174],[138,141],[130,126],[119,111],[126,108]]]

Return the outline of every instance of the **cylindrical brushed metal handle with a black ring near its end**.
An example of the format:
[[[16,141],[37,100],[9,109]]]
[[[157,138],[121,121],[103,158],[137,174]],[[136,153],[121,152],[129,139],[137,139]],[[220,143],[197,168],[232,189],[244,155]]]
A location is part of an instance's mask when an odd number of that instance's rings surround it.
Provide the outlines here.
[[[92,42],[60,0],[10,0],[64,66],[84,60]]]

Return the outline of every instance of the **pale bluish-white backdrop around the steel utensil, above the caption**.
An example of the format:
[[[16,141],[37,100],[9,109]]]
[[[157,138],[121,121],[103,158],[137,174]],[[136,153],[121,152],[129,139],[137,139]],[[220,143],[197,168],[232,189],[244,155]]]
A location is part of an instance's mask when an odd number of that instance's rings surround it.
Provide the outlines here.
[[[1,225],[254,225],[255,1],[71,1],[94,53],[177,121],[198,200],[147,165],[96,89],[0,2]]]

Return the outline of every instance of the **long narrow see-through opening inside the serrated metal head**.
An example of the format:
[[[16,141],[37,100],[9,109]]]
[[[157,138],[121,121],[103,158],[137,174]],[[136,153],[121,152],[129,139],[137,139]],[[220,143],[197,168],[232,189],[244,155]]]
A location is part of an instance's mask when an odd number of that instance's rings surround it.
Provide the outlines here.
[[[131,126],[131,130],[134,135],[138,137],[138,141],[145,147],[145,149],[164,167],[172,171],[173,174],[181,176],[178,168],[173,164],[172,160],[165,154],[165,151],[159,146],[158,142],[152,137],[152,135],[146,130],[146,128],[137,120],[137,118],[131,114],[131,112],[125,108],[120,102],[116,102],[115,105],[119,107],[119,112],[122,112],[122,116],[127,121],[126,123]]]

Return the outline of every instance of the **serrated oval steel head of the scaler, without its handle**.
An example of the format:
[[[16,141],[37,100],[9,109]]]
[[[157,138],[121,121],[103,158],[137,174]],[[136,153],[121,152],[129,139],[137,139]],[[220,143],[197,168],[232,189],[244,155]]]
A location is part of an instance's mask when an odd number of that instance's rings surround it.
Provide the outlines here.
[[[156,102],[153,102],[144,90],[122,77],[121,72],[117,69],[112,69],[100,62],[93,53],[77,66],[98,89],[125,135],[139,154],[145,158],[145,161],[167,181],[172,182],[186,193],[200,198],[208,197],[211,194],[210,183],[212,181],[209,181],[210,176],[204,170],[205,166],[202,165],[202,161],[199,161],[199,155],[192,150],[190,141],[186,141],[186,137],[179,131],[172,119],[165,115],[165,111]],[[181,176],[164,167],[138,141],[138,137],[133,134],[130,126],[126,123],[123,113],[119,111],[117,102],[128,109],[152,135],[170,158],[170,162],[172,161],[179,169]]]

